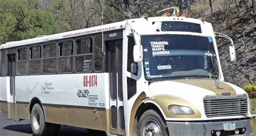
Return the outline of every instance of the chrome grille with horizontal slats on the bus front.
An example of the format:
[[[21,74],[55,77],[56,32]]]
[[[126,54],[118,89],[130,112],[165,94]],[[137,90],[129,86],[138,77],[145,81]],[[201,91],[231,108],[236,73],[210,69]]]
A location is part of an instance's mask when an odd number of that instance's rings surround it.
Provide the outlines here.
[[[204,108],[207,117],[245,115],[248,110],[248,100],[245,95],[223,98],[210,96],[204,98]]]

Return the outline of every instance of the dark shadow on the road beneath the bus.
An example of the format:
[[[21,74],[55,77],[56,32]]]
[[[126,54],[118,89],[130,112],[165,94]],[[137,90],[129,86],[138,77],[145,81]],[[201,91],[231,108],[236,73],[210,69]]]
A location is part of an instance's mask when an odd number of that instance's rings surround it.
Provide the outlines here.
[[[30,124],[19,124],[19,125],[9,125],[4,127],[5,130],[33,134]],[[93,133],[88,133],[85,128],[71,127],[71,126],[61,126],[58,136],[89,136],[89,135],[105,135],[104,132],[92,131]]]

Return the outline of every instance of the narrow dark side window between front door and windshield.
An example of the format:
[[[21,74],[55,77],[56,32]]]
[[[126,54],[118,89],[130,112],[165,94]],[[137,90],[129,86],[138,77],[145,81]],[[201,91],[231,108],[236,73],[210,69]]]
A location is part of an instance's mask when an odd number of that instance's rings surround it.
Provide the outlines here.
[[[133,60],[133,46],[135,45],[134,38],[132,36],[128,37],[128,51],[127,51],[127,71],[131,72],[131,64],[135,63]],[[136,76],[138,75],[138,71],[133,73]]]

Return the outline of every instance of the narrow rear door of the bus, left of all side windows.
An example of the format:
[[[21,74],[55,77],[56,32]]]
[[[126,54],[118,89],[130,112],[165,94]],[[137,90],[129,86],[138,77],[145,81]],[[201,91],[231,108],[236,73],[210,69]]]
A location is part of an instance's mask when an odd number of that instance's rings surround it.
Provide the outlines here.
[[[8,115],[9,118],[17,117],[17,107],[15,99],[15,54],[8,55],[8,76],[10,77],[10,92],[8,100]]]

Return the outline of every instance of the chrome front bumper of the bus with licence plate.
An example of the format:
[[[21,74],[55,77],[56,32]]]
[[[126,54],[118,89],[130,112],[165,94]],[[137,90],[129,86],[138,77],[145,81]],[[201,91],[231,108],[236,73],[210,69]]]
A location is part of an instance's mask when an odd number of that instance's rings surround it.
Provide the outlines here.
[[[256,135],[256,118],[234,121],[216,121],[216,122],[172,122],[167,121],[169,135],[216,135],[220,133],[234,133],[234,131],[224,131],[224,123],[235,123],[235,128],[240,131],[245,128],[241,135]]]

